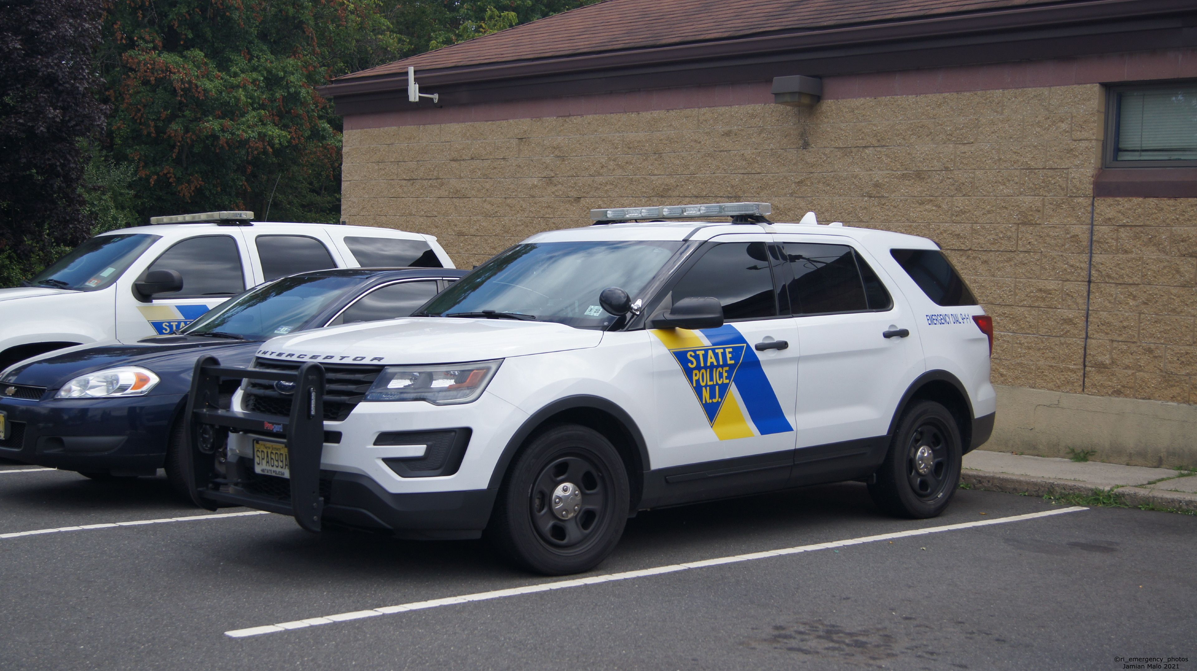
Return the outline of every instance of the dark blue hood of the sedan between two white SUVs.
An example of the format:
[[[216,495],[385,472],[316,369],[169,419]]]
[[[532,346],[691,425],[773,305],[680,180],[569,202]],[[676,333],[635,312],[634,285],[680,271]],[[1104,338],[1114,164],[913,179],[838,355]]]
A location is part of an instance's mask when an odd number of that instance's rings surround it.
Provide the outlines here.
[[[183,394],[190,385],[195,360],[201,355],[215,356],[224,366],[248,366],[259,344],[261,343],[256,341],[192,337],[184,342],[163,344],[147,342],[71,347],[42,354],[16,366],[5,376],[4,382],[56,389],[85,373],[117,366],[141,366],[153,371],[163,380],[151,394]],[[181,386],[176,384],[180,380]]]

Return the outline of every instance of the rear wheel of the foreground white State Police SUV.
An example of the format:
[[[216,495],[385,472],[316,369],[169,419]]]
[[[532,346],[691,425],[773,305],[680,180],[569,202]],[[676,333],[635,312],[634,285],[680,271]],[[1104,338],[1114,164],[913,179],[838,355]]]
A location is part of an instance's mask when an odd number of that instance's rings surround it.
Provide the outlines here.
[[[869,495],[895,517],[935,517],[956,493],[961,456],[960,429],[952,413],[934,401],[919,401],[898,422]]]

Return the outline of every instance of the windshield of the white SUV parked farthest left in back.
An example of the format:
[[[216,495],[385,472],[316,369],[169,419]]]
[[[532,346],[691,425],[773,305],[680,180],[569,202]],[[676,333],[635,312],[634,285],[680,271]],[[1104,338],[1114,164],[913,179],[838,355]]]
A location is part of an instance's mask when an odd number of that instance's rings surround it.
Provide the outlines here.
[[[57,289],[102,289],[115,282],[160,237],[146,233],[97,236],[55,261],[29,283]]]

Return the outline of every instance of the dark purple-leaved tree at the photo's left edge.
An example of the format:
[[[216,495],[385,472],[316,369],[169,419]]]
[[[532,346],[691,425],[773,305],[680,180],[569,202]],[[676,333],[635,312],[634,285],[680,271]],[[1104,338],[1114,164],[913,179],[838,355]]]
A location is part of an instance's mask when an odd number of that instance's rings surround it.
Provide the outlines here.
[[[36,273],[92,227],[79,141],[104,128],[98,44],[92,0],[0,2],[0,286]]]

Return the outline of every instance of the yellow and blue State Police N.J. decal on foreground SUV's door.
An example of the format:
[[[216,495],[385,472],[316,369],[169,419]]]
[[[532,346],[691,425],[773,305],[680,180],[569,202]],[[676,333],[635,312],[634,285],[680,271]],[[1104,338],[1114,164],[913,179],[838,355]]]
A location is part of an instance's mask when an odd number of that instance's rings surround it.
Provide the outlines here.
[[[735,327],[650,333],[674,355],[719,440],[794,431],[760,359]]]

